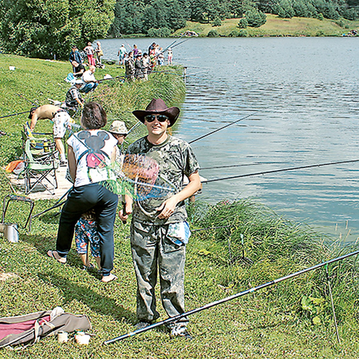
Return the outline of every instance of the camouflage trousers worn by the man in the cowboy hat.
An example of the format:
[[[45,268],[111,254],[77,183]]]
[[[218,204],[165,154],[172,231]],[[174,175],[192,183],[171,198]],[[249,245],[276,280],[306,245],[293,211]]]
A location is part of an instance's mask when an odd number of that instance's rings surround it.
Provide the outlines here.
[[[152,321],[156,311],[155,285],[157,267],[163,308],[169,317],[185,312],[184,245],[178,246],[166,237],[168,225],[131,223],[131,250],[137,279],[137,318]],[[173,239],[175,240],[175,239]],[[177,325],[186,325],[181,318]],[[173,326],[173,325],[172,325]],[[169,327],[172,327],[169,325]]]

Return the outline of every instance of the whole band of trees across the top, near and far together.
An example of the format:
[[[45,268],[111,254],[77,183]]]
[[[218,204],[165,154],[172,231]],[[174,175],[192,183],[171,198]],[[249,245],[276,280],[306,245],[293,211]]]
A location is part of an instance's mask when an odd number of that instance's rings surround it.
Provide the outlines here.
[[[106,36],[169,36],[186,20],[257,27],[281,18],[359,19],[358,0],[0,0],[0,51],[39,58],[68,56],[73,44]]]

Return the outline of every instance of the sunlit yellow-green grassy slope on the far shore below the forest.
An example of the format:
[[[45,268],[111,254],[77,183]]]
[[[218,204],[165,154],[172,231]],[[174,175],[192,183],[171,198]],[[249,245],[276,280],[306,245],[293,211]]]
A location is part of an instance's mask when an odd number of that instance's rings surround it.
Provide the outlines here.
[[[174,34],[179,35],[186,30],[195,31],[199,36],[207,36],[211,30],[216,30],[220,36],[229,36],[229,34],[238,28],[239,19],[225,19],[221,26],[212,26],[212,24],[196,23],[187,21],[186,27],[177,30]],[[267,21],[258,28],[248,27],[242,29],[242,36],[342,36],[348,33],[350,29],[358,29],[359,21],[349,20],[330,20],[297,18],[281,19],[277,15],[267,14]]]

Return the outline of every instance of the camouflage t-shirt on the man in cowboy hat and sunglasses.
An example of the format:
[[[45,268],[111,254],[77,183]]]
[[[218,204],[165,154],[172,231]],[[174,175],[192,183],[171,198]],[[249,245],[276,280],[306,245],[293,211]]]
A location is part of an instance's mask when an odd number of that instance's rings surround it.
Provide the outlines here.
[[[176,137],[168,135],[160,145],[151,144],[147,136],[140,138],[127,149],[128,154],[146,155],[159,165],[159,172],[148,198],[135,200],[132,216],[143,223],[168,224],[187,219],[185,201],[177,204],[168,219],[158,219],[156,210],[165,199],[181,191],[183,176],[190,176],[199,170],[199,164],[191,146]],[[152,195],[153,194],[153,195]]]

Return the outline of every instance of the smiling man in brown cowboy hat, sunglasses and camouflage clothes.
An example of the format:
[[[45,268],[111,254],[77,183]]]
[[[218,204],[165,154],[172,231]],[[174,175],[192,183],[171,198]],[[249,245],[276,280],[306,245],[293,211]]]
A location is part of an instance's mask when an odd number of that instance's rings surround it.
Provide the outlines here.
[[[132,112],[147,127],[148,135],[135,141],[127,150],[157,161],[159,172],[154,183],[174,189],[160,198],[132,200],[126,196],[125,215],[132,213],[131,250],[137,279],[137,328],[143,328],[159,317],[156,311],[155,284],[157,266],[160,293],[168,316],[185,312],[184,266],[185,244],[190,235],[184,200],[201,185],[199,164],[190,145],[167,134],[180,114],[178,107],[167,107],[162,99],[153,99],[144,111]],[[183,185],[183,175],[188,184]],[[162,182],[161,182],[162,181]],[[133,206],[133,210],[132,210]],[[171,336],[191,339],[186,317],[169,323]]]

